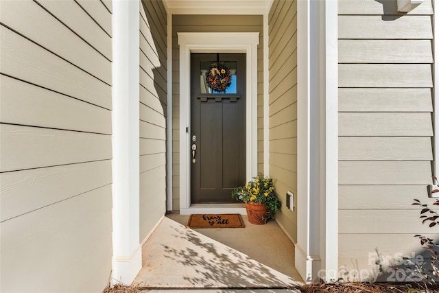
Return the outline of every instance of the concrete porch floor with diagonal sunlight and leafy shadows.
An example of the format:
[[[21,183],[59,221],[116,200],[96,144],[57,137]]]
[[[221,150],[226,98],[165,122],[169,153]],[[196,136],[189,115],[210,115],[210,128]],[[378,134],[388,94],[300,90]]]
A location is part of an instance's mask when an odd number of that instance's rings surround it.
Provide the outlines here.
[[[143,245],[134,285],[144,292],[299,292],[294,245],[274,220],[246,228],[189,229],[169,213]]]

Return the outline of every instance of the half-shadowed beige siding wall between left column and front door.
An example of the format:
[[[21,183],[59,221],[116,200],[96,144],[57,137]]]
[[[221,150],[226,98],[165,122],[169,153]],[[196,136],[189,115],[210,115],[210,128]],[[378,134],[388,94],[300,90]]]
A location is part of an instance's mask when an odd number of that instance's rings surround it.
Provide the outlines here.
[[[140,239],[166,211],[166,11],[162,1],[140,7]]]

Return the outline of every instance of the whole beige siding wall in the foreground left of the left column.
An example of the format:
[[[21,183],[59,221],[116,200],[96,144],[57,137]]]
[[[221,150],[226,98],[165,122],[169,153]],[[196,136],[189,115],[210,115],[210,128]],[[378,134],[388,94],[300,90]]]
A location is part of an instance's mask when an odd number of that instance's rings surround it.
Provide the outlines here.
[[[1,292],[100,292],[110,276],[110,8],[1,1]]]

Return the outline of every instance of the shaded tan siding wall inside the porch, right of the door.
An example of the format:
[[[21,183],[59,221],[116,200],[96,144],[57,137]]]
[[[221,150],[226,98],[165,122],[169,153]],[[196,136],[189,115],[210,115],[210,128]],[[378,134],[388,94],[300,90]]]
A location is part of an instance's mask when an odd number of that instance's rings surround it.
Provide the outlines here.
[[[297,193],[296,13],[296,1],[274,1],[268,16],[270,176],[283,202],[276,219],[293,239],[297,215],[286,207],[285,194]]]

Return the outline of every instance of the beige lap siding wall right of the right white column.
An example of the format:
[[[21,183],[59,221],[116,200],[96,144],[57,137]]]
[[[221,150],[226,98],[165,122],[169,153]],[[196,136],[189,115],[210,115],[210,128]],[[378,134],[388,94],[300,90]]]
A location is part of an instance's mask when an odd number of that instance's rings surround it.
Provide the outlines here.
[[[385,1],[384,1],[385,2]],[[390,2],[390,1],[389,1]],[[339,265],[420,254],[413,198],[431,203],[431,1],[339,1]],[[358,269],[358,268],[357,268]]]

